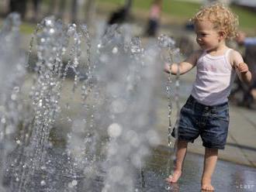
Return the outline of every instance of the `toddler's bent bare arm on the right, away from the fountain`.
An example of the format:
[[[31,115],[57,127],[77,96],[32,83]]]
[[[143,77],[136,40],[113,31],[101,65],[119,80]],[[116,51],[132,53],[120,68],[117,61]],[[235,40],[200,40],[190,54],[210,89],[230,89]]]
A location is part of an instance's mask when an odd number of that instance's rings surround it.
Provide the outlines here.
[[[246,63],[244,63],[244,60],[240,53],[237,51],[232,52],[232,57],[233,63],[234,63],[234,68],[237,71],[238,77],[240,78],[240,81],[243,81],[247,84],[251,82],[251,72],[247,66]]]

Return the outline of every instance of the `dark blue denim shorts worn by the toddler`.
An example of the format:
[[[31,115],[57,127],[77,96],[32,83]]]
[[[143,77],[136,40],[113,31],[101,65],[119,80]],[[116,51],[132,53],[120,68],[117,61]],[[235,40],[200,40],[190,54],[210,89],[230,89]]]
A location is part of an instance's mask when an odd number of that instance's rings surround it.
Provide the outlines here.
[[[200,135],[202,146],[210,149],[224,149],[230,122],[228,103],[207,106],[192,96],[186,101],[180,112],[171,135],[186,142],[194,142]],[[176,137],[175,137],[176,138]]]

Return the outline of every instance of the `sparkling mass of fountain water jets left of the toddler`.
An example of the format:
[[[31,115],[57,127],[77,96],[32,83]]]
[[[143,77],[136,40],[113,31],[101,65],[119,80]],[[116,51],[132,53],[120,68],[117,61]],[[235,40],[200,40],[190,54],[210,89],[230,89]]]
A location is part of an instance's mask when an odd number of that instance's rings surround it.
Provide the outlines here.
[[[19,21],[11,18],[7,22]],[[7,26],[12,30],[3,27],[1,34],[13,36],[6,43],[13,46],[19,25]],[[144,158],[150,146],[160,142],[154,128],[162,73],[159,59],[163,49],[173,51],[174,45],[162,38],[144,48],[127,28],[111,26],[104,36],[92,39],[85,25],[43,19],[29,47],[29,55],[35,50],[37,60],[26,104],[18,100],[25,57],[3,52],[5,62],[15,59],[12,63],[18,63],[20,72],[12,71],[13,80],[2,81],[11,87],[10,94],[1,94],[2,108],[9,106],[9,112],[2,110],[0,140],[6,191],[91,191],[95,185],[94,191],[139,191],[145,187]],[[178,103],[178,95],[175,100]],[[6,132],[9,126],[11,131]],[[12,132],[19,132],[19,137],[9,138]],[[54,140],[58,134],[64,137],[61,145]]]

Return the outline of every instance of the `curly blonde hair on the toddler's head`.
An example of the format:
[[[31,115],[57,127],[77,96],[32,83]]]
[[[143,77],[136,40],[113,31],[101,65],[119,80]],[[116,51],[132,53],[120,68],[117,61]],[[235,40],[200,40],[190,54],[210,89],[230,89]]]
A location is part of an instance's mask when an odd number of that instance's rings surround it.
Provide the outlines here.
[[[192,18],[194,24],[205,20],[212,22],[214,29],[224,31],[227,39],[237,36],[238,16],[231,12],[227,6],[215,3],[202,7]]]

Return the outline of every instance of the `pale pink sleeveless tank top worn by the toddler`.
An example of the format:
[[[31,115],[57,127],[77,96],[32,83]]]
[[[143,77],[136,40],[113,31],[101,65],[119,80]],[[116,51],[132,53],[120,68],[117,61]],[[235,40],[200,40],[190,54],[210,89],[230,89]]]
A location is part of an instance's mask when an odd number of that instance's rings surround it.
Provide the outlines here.
[[[205,51],[199,57],[191,93],[199,103],[213,106],[228,101],[236,74],[229,61],[230,51],[231,49],[216,57]]]

